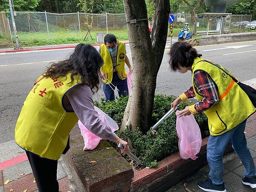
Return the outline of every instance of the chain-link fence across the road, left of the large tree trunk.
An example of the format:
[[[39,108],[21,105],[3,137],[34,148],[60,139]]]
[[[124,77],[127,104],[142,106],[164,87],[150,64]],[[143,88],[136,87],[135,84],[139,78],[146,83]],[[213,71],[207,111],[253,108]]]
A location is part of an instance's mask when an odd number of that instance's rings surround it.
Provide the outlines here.
[[[11,20],[10,20],[11,21]],[[54,14],[16,12],[15,25],[19,41],[69,39],[96,41],[96,32],[110,33],[126,29],[125,14]],[[10,29],[13,26],[10,22]]]

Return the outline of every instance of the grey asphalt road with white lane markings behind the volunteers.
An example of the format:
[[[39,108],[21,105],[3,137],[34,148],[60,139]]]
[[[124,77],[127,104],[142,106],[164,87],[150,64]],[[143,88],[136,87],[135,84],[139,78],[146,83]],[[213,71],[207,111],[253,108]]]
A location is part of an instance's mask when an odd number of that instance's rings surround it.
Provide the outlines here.
[[[127,55],[131,52],[127,44]],[[256,41],[196,47],[198,52],[230,70],[240,81],[256,78]],[[0,143],[13,140],[17,117],[35,80],[51,61],[68,57],[73,49],[0,54]],[[168,50],[165,51],[157,76],[156,93],[176,95],[191,85],[191,73],[169,70]],[[103,90],[94,96],[104,97]]]

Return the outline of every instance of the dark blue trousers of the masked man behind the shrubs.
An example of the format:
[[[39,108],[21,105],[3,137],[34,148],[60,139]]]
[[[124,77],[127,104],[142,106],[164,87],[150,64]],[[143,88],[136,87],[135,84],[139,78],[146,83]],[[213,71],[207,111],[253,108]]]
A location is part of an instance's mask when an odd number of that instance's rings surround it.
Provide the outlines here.
[[[128,86],[127,86],[127,79],[120,79],[117,72],[113,72],[113,78],[111,81],[112,84],[103,84],[103,90],[105,93],[105,101],[114,101],[115,100],[115,87],[117,87],[118,95],[127,96],[128,95]],[[111,88],[112,87],[112,88]]]

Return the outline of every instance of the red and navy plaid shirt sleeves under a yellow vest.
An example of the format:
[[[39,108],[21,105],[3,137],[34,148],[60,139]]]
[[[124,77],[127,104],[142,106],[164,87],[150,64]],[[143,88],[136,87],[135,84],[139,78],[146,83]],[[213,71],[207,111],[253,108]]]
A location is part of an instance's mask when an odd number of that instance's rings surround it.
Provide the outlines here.
[[[195,111],[199,113],[213,107],[220,99],[218,87],[207,72],[203,70],[196,71],[194,79],[198,92],[204,96],[203,99],[195,104]],[[188,99],[195,97],[193,86],[186,90],[185,95]]]

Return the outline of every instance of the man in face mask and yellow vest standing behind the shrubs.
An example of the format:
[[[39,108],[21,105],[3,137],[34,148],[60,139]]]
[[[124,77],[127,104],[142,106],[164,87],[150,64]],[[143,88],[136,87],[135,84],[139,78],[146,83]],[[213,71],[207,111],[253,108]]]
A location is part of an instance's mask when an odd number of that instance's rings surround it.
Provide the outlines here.
[[[115,100],[115,88],[118,90],[119,97],[127,96],[128,87],[125,64],[131,73],[133,69],[126,55],[125,44],[116,41],[115,35],[107,34],[104,38],[104,44],[98,48],[98,51],[104,60],[101,75],[104,82],[105,101]]]

